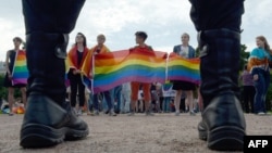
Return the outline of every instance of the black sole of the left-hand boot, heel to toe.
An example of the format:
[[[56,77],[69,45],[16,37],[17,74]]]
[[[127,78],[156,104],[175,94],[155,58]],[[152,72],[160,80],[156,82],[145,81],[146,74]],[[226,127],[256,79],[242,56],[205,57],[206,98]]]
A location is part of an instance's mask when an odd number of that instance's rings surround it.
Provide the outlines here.
[[[75,130],[67,127],[54,129],[45,125],[29,124],[21,130],[20,145],[23,148],[48,148],[64,140],[83,139],[88,133],[88,129]]]

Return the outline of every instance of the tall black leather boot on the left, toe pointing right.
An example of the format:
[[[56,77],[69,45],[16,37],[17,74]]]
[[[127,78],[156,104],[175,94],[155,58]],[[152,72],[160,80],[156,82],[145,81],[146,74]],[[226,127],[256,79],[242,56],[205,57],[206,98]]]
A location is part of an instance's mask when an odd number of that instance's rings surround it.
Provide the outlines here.
[[[67,35],[27,35],[29,69],[27,107],[21,128],[24,148],[42,148],[85,138],[89,130],[65,101],[65,50]]]

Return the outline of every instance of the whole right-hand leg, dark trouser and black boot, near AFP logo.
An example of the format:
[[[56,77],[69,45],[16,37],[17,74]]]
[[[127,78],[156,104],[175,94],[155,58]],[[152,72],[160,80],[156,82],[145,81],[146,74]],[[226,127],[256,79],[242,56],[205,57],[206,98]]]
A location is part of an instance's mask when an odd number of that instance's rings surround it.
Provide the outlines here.
[[[190,2],[200,47],[199,138],[212,150],[243,150],[246,124],[237,97],[244,0]]]

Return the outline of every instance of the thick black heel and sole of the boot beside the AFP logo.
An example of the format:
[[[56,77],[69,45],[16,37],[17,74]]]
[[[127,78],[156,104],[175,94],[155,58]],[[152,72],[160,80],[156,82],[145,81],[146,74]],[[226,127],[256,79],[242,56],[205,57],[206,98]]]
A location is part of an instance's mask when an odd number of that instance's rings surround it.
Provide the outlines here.
[[[234,126],[219,127],[208,132],[208,148],[217,151],[243,151],[244,136],[245,130],[242,128]]]

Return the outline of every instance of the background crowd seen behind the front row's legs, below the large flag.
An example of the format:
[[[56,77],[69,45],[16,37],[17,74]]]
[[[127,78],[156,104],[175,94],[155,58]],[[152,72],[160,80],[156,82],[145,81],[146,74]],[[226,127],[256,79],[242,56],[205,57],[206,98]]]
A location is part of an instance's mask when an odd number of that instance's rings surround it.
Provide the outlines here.
[[[111,103],[114,107],[114,116],[118,114],[131,114],[131,89],[126,89],[124,86],[131,86],[129,82],[124,84],[122,86],[115,87],[112,90],[109,91],[109,95],[111,97]],[[115,91],[121,91],[121,92],[115,92]],[[163,95],[162,91],[162,85],[160,82],[154,82],[151,84],[150,88],[150,94],[151,94],[151,103],[150,103],[150,112],[152,113],[175,113],[176,112],[176,106],[175,106],[175,91],[172,90],[172,94],[165,94]],[[95,101],[91,98],[92,94],[89,91],[86,91],[86,107],[85,111],[87,115],[94,115],[98,116],[100,112],[103,112],[106,114],[111,113],[109,107],[108,107],[108,102],[107,98],[104,94],[99,94],[98,97],[98,104],[97,107],[95,106]],[[186,103],[186,95],[185,92],[183,93],[183,97],[181,98],[180,102],[180,113],[189,113],[189,106]],[[145,100],[144,100],[144,92],[141,90],[141,86],[139,87],[138,90],[138,95],[137,100],[135,103],[135,110],[134,113],[145,113],[146,105],[145,105]],[[199,104],[198,104],[198,99],[197,95],[195,95],[194,101],[193,101],[193,111],[194,113],[200,112]],[[194,114],[194,115],[195,115]],[[113,116],[112,114],[109,114],[110,116]],[[176,115],[176,113],[175,113]],[[180,114],[178,114],[180,115]],[[191,113],[190,113],[191,115]]]

